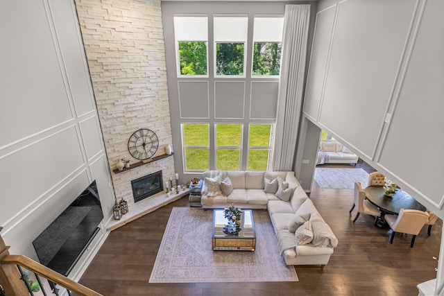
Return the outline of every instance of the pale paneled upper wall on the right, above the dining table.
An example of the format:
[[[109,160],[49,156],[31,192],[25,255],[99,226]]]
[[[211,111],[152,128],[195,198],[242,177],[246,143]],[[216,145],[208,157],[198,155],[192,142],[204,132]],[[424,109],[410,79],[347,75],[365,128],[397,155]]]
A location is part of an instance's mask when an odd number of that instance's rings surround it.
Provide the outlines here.
[[[443,2],[327,3],[316,21],[305,116],[442,218]]]

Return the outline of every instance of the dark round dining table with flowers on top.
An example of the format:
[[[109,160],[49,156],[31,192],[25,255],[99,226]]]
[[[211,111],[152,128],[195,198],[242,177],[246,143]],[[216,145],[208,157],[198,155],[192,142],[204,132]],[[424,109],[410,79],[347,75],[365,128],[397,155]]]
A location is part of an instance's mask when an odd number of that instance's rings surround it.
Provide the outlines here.
[[[398,215],[401,209],[426,210],[425,207],[412,198],[409,193],[401,189],[396,189],[395,195],[393,196],[387,196],[385,194],[384,186],[368,186],[364,191],[368,201],[375,204],[381,211],[380,223],[378,223],[380,227],[384,225],[385,214]]]

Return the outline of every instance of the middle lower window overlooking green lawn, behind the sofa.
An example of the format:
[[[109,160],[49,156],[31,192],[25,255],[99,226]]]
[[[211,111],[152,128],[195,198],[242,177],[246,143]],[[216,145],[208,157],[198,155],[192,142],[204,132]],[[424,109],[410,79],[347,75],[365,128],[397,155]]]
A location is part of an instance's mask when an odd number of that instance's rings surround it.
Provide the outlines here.
[[[216,124],[216,170],[239,171],[241,168],[242,125]]]

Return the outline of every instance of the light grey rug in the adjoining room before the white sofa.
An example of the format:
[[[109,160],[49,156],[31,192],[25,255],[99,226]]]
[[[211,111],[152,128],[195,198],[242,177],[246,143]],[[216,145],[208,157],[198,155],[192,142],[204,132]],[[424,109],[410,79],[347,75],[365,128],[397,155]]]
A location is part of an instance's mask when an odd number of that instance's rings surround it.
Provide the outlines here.
[[[368,173],[362,168],[316,168],[314,180],[325,189],[354,189],[357,181],[366,188]]]

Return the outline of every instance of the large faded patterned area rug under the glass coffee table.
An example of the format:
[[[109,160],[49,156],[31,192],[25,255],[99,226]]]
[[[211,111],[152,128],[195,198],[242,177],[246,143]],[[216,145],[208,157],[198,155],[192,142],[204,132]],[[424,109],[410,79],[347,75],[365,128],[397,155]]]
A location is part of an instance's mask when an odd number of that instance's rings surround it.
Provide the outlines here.
[[[255,252],[213,251],[212,220],[212,210],[173,208],[149,282],[298,281],[279,254],[268,212],[253,210]]]

